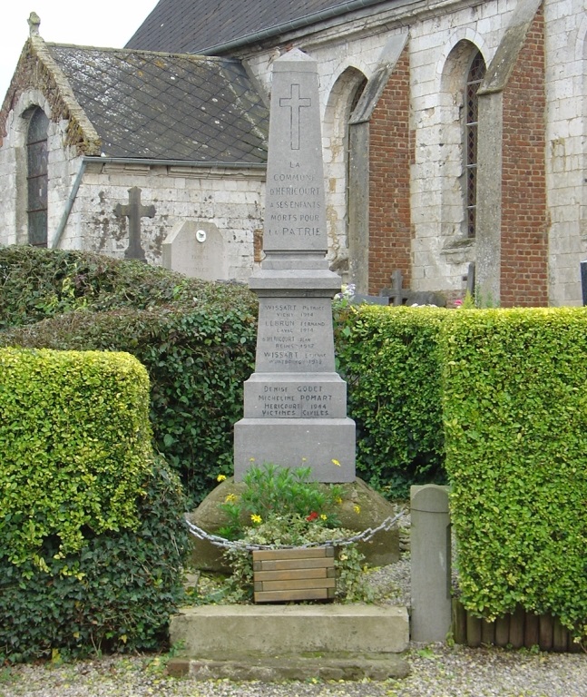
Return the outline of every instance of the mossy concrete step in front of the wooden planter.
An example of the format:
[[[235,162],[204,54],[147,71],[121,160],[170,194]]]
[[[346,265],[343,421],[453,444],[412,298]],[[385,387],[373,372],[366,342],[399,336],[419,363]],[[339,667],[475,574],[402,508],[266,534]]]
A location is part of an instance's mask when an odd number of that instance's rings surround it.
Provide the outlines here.
[[[405,607],[204,605],[171,620],[173,674],[234,680],[385,680],[407,672]]]

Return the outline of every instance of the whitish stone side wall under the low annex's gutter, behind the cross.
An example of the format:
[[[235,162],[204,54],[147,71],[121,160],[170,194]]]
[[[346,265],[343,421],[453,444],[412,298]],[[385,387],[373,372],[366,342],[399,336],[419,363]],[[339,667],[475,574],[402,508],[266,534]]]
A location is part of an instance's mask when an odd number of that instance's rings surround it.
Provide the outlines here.
[[[155,208],[153,218],[141,220],[147,261],[161,264],[162,243],[178,223],[211,223],[224,241],[228,279],[245,281],[253,269],[254,232],[262,227],[261,177],[264,172],[247,170],[89,163],[60,246],[82,241],[85,250],[123,258],[128,219],[114,209],[128,203],[129,189],[138,187],[142,204]]]

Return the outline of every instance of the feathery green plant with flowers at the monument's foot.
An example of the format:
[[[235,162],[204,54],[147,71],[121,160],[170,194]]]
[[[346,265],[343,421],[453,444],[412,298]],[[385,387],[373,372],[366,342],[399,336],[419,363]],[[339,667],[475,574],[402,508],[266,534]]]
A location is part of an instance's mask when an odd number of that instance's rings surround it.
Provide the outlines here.
[[[311,467],[250,466],[240,496],[230,494],[220,504],[229,518],[220,535],[237,539],[249,525],[259,525],[275,515],[308,518],[316,525],[337,527],[336,509],[342,503],[342,487],[309,481],[311,471]]]

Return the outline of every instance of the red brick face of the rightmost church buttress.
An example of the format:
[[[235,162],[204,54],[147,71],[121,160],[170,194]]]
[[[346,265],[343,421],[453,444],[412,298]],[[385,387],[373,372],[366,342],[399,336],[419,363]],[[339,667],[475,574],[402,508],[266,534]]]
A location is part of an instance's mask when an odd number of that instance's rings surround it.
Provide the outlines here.
[[[545,108],[540,9],[504,90],[503,307],[548,305]]]

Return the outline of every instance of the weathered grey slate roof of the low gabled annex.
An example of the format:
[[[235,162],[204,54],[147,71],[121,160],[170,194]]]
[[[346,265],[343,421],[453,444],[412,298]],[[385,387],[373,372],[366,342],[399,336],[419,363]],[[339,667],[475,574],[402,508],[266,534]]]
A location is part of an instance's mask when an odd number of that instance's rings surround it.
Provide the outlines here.
[[[269,112],[239,61],[47,44],[109,157],[267,160]]]

